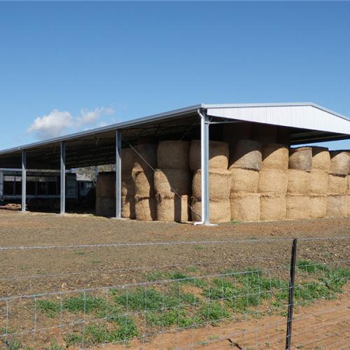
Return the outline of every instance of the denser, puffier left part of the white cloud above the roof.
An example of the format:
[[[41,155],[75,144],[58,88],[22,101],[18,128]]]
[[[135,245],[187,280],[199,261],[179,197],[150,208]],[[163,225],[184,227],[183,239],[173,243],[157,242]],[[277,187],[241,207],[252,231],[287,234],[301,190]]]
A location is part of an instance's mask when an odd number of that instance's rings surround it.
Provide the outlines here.
[[[48,116],[36,118],[28,127],[27,133],[33,132],[40,140],[59,137],[71,127],[72,119],[71,113],[54,109]]]

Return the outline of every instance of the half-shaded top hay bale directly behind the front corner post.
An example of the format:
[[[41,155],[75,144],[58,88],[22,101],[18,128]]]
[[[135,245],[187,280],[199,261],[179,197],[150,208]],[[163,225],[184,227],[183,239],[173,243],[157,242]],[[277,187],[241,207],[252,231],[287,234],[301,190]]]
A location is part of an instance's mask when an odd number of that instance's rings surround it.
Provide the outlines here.
[[[226,142],[209,141],[209,169],[228,169],[228,144]],[[200,140],[191,141],[190,169],[201,168]]]

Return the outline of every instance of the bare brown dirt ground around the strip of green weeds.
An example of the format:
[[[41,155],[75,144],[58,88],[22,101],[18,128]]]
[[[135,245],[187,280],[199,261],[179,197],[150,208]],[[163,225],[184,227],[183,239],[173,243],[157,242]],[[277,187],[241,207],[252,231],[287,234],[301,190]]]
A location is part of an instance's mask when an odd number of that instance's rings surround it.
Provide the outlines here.
[[[202,276],[224,269],[259,268],[285,278],[294,237],[300,239],[299,259],[349,267],[350,218],[207,227],[0,209],[0,246],[36,247],[0,250],[0,297],[120,286],[143,282],[146,274],[153,272],[185,269]],[[335,308],[336,314],[331,312]],[[29,311],[28,315],[31,317]],[[26,314],[18,316],[25,318]],[[338,300],[321,300],[300,309],[297,317],[301,318],[294,327],[300,330],[297,342],[304,343],[302,349],[314,349],[315,339],[322,349],[345,349],[349,340],[349,290]],[[302,332],[306,325],[314,335],[309,345],[309,335]],[[127,346],[281,349],[284,332],[285,318],[263,316],[167,333],[145,343],[135,340]]]

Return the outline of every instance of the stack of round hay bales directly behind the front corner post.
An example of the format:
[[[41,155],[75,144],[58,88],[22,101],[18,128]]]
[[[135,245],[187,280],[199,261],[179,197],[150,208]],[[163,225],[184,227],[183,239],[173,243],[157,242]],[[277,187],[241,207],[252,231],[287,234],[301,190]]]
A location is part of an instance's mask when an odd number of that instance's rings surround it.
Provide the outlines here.
[[[228,171],[228,144],[209,142],[209,213],[212,223],[225,223],[231,219],[230,172]],[[200,141],[190,144],[190,169],[194,172],[192,183],[192,219],[202,221],[202,179]]]

